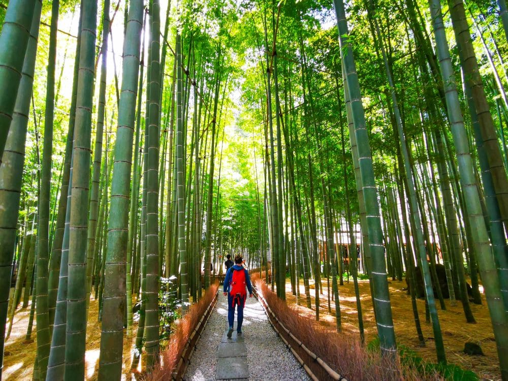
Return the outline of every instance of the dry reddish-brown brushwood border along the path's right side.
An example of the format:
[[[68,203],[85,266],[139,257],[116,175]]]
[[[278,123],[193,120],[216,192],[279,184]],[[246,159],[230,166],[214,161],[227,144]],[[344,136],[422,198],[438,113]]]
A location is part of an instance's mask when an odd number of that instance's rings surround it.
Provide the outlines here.
[[[255,282],[258,291],[264,296],[281,323],[310,351],[321,357],[343,377],[350,380],[439,379],[439,376],[434,373],[420,374],[414,369],[401,366],[398,359],[389,361],[377,352],[367,351],[357,335],[337,333],[317,324],[277,298],[263,281],[256,279]]]

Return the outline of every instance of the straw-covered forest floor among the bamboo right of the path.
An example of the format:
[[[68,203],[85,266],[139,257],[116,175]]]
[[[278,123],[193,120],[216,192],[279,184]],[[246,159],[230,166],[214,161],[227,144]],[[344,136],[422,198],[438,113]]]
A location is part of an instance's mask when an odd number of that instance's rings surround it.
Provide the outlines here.
[[[322,280],[322,283],[324,294],[320,297],[320,323],[323,326],[335,329],[335,302],[330,302],[331,308],[329,312],[326,278]],[[422,331],[426,340],[426,346],[421,347],[414,324],[415,320],[411,307],[411,297],[405,290],[402,290],[406,287],[406,282],[389,280],[388,283],[390,287],[390,300],[397,343],[410,347],[428,362],[436,362],[432,325],[425,322],[424,299],[417,300]],[[300,281],[300,292],[303,297],[298,299],[298,310],[302,314],[307,314],[309,316],[315,316],[315,291],[313,287],[314,285],[311,281],[310,294],[312,311],[309,311],[308,308],[306,308],[303,281]],[[365,341],[368,343],[377,335],[368,280],[359,280],[359,289],[363,311]],[[339,287],[339,293],[342,329],[346,332],[359,334],[356,297],[352,278],[349,283],[344,279],[344,285]],[[331,294],[333,293],[331,292]],[[472,370],[477,373],[481,379],[500,380],[499,360],[497,357],[494,333],[492,332],[489,309],[487,308],[485,295],[482,295],[482,297],[482,305],[471,303],[471,310],[477,324],[466,323],[460,301],[457,301],[456,305],[452,306],[450,300],[445,299],[447,310],[441,310],[439,308],[439,302],[436,301],[444,347],[449,363],[459,365],[467,370]],[[287,279],[286,283],[286,298],[289,304],[296,304],[296,296],[291,292],[291,281],[289,279]],[[462,351],[464,349],[464,343],[467,341],[480,344],[485,356],[469,356],[464,354]]]

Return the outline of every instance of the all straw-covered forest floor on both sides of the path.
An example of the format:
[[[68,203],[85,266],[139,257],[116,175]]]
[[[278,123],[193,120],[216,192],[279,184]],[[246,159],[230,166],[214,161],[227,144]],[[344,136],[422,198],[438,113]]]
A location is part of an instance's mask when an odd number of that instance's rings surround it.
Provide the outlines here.
[[[312,317],[315,315],[315,292],[313,287],[314,285],[311,284],[310,294],[312,299],[312,311],[309,311],[305,307],[305,297],[299,298],[299,306],[297,307],[300,313]],[[326,279],[323,279],[323,287],[324,294],[320,297],[320,323],[325,327],[335,329],[335,304],[333,301],[330,301],[331,308],[329,312]],[[410,347],[428,362],[436,362],[432,326],[430,323],[425,323],[425,301],[423,299],[417,300],[422,330],[426,339],[426,346],[420,347],[414,324],[414,316],[412,314],[411,298],[406,291],[403,290],[403,288],[406,287],[405,281],[389,280],[389,287],[397,343]],[[368,281],[359,280],[359,288],[365,327],[365,340],[369,342],[376,336],[377,331]],[[300,292],[304,295],[303,281],[300,281]],[[339,292],[342,329],[346,332],[358,334],[358,315],[353,279],[351,279],[349,283],[344,279],[344,285],[340,286]],[[288,303],[295,305],[296,297],[291,293],[291,282],[289,279],[287,279],[286,283],[286,295]],[[477,324],[466,323],[460,302],[457,302],[455,306],[451,306],[450,300],[448,299],[446,299],[445,302],[447,310],[439,309],[438,304],[438,315],[448,362],[457,364],[464,369],[472,370],[482,379],[500,379],[496,343],[494,341],[492,324],[485,297],[482,305],[471,303],[471,309]],[[3,379],[5,380],[31,380],[37,343],[34,341],[32,343],[23,344],[28,327],[29,313],[30,307],[28,306],[27,308],[18,309],[14,315],[11,336],[6,341],[5,345],[6,354],[4,356],[3,371]],[[85,355],[85,378],[87,380],[97,379],[101,343],[101,323],[97,320],[98,301],[93,299],[93,297],[90,299],[89,313],[90,319],[88,320],[86,332],[87,351]],[[135,336],[137,323],[134,324],[133,328]],[[31,338],[36,338],[35,322]],[[123,369],[124,374],[126,374],[131,364],[134,340],[129,341],[126,336],[124,336],[123,340],[124,344],[128,342],[131,343],[131,345],[124,345],[123,348]],[[462,350],[466,341],[480,344],[485,356],[468,356],[464,354]]]

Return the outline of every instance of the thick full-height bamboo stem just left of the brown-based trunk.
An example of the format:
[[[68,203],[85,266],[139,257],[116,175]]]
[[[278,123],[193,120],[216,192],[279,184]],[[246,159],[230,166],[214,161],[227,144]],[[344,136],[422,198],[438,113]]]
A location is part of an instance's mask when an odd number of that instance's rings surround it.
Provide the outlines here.
[[[90,179],[90,135],[93,98],[97,3],[83,2],[76,125],[73,147],[72,204],[64,379],[82,379],[86,342],[86,237]]]

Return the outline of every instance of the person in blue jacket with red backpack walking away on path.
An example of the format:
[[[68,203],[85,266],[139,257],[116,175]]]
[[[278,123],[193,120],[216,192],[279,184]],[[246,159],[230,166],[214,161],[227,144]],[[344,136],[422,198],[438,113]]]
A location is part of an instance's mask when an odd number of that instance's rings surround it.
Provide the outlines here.
[[[224,279],[224,296],[228,296],[228,337],[233,335],[233,324],[235,322],[235,309],[238,306],[238,324],[236,332],[242,334],[243,307],[247,300],[247,292],[252,298],[252,284],[250,283],[249,273],[242,267],[242,256],[235,256],[235,265],[228,269]]]

